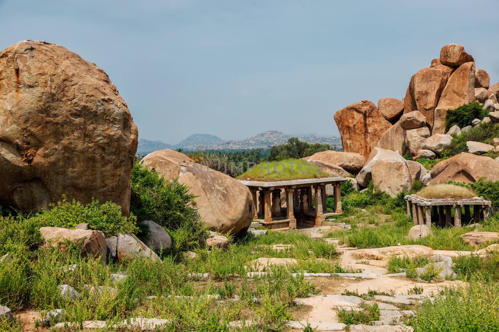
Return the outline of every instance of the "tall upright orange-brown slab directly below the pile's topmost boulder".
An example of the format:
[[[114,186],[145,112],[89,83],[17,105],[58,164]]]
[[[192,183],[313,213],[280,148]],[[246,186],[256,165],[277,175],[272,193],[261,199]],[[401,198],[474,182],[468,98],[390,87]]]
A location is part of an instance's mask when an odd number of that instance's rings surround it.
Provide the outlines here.
[[[440,101],[435,108],[433,134],[445,133],[447,110],[470,104],[475,101],[475,63],[467,62],[454,73],[447,82]]]

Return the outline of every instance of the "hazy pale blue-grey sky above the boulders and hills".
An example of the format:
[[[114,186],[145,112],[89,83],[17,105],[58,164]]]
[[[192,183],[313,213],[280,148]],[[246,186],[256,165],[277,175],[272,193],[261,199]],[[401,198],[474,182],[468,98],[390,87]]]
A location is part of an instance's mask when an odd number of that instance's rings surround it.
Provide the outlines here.
[[[96,63],[139,137],[338,135],[335,111],[402,98],[459,43],[499,80],[497,0],[0,0],[0,49],[25,39]]]

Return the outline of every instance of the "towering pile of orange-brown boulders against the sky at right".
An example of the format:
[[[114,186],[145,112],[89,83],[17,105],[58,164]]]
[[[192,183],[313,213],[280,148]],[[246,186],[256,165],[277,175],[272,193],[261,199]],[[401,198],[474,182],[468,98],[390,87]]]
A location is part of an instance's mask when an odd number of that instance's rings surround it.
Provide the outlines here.
[[[378,146],[417,156],[430,136],[445,134],[449,109],[476,100],[497,103],[498,91],[499,83],[490,86],[489,74],[476,69],[462,45],[449,44],[411,77],[404,98],[381,98],[377,105],[363,100],[337,111],[334,120],[345,152],[368,158]]]

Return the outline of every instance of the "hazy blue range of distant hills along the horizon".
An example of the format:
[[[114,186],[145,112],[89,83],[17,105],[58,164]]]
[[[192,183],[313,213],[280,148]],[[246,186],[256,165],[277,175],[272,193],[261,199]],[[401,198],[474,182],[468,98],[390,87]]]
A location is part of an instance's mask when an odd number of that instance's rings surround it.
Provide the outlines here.
[[[268,148],[272,145],[279,145],[287,143],[288,138],[298,137],[300,141],[307,143],[321,143],[329,144],[331,147],[335,146],[337,149],[341,148],[341,138],[334,136],[325,136],[317,134],[297,134],[287,135],[277,130],[268,130],[256,134],[250,138],[236,141],[224,141],[222,138],[210,134],[192,134],[183,141],[170,145],[161,141],[150,141],[147,139],[139,140],[139,147],[137,154],[147,154],[153,151],[162,149],[179,149],[196,150],[196,149],[213,149],[213,150],[246,150]]]

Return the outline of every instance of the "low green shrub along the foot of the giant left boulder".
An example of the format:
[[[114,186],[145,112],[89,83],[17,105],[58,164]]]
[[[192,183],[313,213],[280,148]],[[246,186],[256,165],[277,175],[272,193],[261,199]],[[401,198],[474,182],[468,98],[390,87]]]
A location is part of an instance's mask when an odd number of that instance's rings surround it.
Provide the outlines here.
[[[88,223],[90,229],[101,230],[106,237],[138,231],[135,216],[130,214],[128,218],[124,217],[121,207],[112,202],[99,204],[99,201],[92,199],[91,203],[83,205],[75,200],[68,202],[63,196],[62,202],[51,204],[50,207],[50,210],[43,210],[31,217],[38,228],[71,228],[79,223]]]

